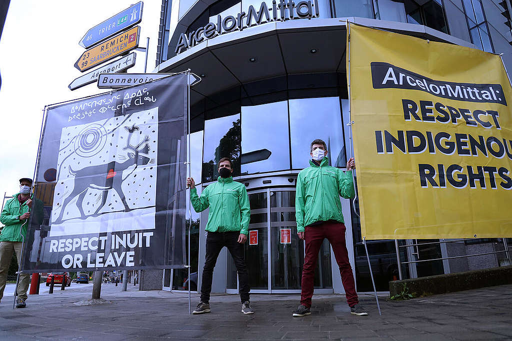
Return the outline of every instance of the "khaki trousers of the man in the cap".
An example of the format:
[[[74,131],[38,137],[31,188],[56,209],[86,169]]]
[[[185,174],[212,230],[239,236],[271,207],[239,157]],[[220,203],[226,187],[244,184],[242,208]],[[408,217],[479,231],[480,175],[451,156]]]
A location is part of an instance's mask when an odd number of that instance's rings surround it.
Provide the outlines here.
[[[2,241],[0,242],[0,300],[4,297],[5,283],[7,281],[7,271],[11,264],[12,253],[16,252],[19,262],[22,261],[22,242]],[[18,298],[27,300],[27,290],[29,288],[30,274],[19,274]]]

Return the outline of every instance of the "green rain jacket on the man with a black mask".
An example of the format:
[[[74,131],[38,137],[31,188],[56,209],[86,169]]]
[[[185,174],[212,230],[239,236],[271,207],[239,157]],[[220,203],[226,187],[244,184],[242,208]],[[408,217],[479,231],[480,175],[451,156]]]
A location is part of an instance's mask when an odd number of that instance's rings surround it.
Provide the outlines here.
[[[250,208],[245,186],[233,181],[231,176],[219,176],[217,180],[204,189],[201,197],[198,197],[196,188],[190,191],[190,201],[194,210],[199,213],[210,208],[206,231],[240,231],[241,234],[247,235]]]

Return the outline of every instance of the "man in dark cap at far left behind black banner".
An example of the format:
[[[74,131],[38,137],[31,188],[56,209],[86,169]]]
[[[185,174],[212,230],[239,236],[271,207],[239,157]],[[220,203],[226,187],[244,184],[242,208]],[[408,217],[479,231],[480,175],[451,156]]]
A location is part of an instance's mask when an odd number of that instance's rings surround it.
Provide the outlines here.
[[[7,200],[0,215],[0,222],[5,225],[0,233],[0,300],[4,297],[7,271],[11,264],[12,253],[16,253],[18,267],[22,262],[22,244],[27,236],[29,217],[33,214],[33,219],[42,222],[43,203],[31,196],[31,187],[32,179],[27,177],[19,179],[19,193]],[[29,279],[29,274],[19,275],[16,308],[26,307],[25,301],[27,300]]]

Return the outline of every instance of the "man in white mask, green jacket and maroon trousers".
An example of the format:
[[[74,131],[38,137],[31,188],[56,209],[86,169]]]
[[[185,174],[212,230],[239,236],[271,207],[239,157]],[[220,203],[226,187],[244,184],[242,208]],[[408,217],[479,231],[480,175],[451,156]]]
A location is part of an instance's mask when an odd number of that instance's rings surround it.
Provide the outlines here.
[[[318,252],[325,238],[331,243],[336,257],[350,312],[359,316],[368,315],[357,299],[345,244],[342,204],[339,201],[339,196],[349,199],[355,195],[352,178],[352,170],[355,169],[354,158],[347,162],[346,172],[329,166],[327,146],[322,140],[314,140],[311,143],[310,155],[311,167],[298,173],[295,192],[297,235],[306,241],[306,250],[302,269],[301,305],[293,312],[293,316],[311,314],[314,272]]]

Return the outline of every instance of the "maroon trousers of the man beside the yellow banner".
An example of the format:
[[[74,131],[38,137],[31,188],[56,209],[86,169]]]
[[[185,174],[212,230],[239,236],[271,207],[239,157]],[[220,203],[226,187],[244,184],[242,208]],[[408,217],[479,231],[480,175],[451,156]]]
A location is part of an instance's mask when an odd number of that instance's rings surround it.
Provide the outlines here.
[[[304,268],[302,269],[301,304],[308,308],[311,307],[318,252],[324,242],[324,238],[327,238],[334,251],[334,256],[339,266],[339,273],[342,275],[347,303],[352,307],[359,301],[355,292],[354,275],[352,274],[347,245],[345,244],[345,224],[338,221],[326,221],[321,224],[306,226],[305,230],[306,255],[304,257]]]

